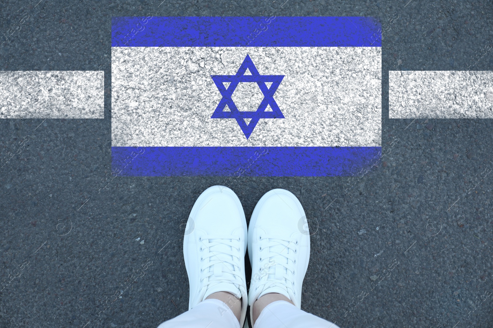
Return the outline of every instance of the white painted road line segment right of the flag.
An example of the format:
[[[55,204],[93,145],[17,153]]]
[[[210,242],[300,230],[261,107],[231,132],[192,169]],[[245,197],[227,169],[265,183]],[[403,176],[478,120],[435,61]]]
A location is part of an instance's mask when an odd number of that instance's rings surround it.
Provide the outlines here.
[[[390,119],[491,119],[493,71],[389,71]]]

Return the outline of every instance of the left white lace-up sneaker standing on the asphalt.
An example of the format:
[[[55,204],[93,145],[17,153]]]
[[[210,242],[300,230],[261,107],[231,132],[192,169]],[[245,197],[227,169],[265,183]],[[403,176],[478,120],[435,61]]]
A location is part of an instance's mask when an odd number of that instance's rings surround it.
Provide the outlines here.
[[[190,284],[188,309],[216,292],[242,299],[240,327],[246,317],[246,220],[238,196],[229,188],[204,191],[188,218],[183,255]]]

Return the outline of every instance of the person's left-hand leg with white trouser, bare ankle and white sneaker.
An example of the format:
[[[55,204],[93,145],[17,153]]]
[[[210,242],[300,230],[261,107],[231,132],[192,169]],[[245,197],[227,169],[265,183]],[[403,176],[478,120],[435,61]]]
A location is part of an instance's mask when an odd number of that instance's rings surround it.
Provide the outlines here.
[[[159,328],[243,327],[247,232],[240,200],[227,187],[210,187],[195,202],[185,232],[188,311]]]

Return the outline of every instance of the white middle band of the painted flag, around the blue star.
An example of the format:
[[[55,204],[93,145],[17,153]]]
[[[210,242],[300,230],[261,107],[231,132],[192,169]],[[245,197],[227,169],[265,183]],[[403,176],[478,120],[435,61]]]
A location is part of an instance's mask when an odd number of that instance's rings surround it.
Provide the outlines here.
[[[211,75],[236,74],[247,54],[261,75],[284,75],[285,117],[260,119],[248,140],[235,119],[211,119]],[[115,147],[381,145],[379,47],[113,47],[111,66]],[[245,111],[263,96],[240,83],[232,98]]]

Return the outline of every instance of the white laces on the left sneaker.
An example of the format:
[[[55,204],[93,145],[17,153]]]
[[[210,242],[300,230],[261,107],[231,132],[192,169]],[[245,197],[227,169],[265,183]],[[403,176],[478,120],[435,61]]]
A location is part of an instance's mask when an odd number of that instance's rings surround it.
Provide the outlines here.
[[[200,269],[200,282],[209,288],[220,283],[233,283],[238,289],[243,281],[240,273],[241,249],[238,242],[241,238],[231,239],[219,236],[202,236],[200,242],[200,261],[205,262]],[[199,253],[199,254],[201,254]],[[206,261],[209,259],[209,261]],[[223,269],[225,268],[225,269]]]

